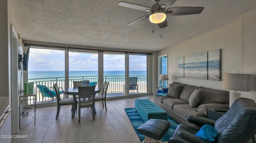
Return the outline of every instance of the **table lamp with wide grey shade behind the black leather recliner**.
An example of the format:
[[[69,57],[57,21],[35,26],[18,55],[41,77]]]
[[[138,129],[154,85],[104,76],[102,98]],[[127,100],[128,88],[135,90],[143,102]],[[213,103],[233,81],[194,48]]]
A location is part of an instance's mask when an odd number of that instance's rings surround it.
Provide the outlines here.
[[[252,74],[239,74],[235,73],[224,73],[223,76],[223,88],[228,90],[234,90],[230,92],[229,107],[234,103],[237,98],[241,97],[241,92],[250,92],[252,90]]]

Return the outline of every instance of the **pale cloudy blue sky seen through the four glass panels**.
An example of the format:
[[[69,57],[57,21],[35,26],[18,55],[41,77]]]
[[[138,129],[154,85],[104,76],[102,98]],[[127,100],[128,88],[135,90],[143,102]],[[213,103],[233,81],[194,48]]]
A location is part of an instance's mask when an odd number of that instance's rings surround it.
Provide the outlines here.
[[[65,53],[59,50],[30,49],[28,71],[64,71]],[[104,54],[104,71],[124,71],[124,55]],[[70,71],[98,71],[98,54],[69,52]],[[146,56],[130,55],[130,71],[146,71]]]

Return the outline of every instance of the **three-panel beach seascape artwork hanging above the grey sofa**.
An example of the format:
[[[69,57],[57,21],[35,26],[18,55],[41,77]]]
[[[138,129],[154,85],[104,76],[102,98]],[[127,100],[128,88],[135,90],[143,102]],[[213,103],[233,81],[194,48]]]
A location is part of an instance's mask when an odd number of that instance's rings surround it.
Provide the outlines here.
[[[220,80],[220,49],[178,58],[180,78]]]

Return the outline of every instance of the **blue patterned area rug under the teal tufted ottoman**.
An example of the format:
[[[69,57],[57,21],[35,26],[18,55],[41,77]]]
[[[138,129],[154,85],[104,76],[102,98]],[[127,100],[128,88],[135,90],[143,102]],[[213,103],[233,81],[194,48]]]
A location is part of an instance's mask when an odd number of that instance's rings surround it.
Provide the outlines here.
[[[135,108],[126,108],[124,109],[126,114],[128,115],[130,121],[132,122],[132,126],[134,127],[138,137],[140,138],[140,141],[143,141],[145,139],[145,136],[142,135],[137,131],[138,127],[140,127],[143,123],[143,119],[140,117],[138,112],[136,112]],[[168,121],[170,122],[171,126],[168,132],[164,135],[164,137],[161,139],[161,141],[168,141],[170,137],[172,136],[172,133],[175,131],[177,126],[179,125],[178,122],[176,122],[174,119],[170,118],[168,116]]]

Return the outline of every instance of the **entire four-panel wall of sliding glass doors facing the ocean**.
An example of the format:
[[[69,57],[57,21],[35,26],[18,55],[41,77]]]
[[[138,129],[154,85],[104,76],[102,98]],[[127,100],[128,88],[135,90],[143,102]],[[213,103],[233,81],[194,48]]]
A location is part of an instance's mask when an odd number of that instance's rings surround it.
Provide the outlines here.
[[[150,56],[146,54],[33,45],[30,47],[28,72],[24,72],[24,81],[34,82],[36,102],[40,104],[52,102],[51,98],[43,98],[36,87],[38,84],[54,90],[54,83],[64,89],[73,87],[73,81],[89,80],[97,82],[97,86],[102,88],[104,81],[107,81],[110,82],[107,98],[146,94],[150,92],[148,61]],[[68,98],[61,94],[63,96]],[[32,101],[29,100],[28,104],[33,104]]]

